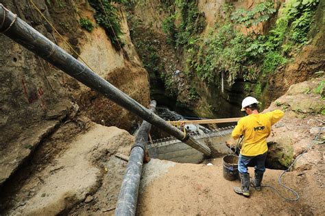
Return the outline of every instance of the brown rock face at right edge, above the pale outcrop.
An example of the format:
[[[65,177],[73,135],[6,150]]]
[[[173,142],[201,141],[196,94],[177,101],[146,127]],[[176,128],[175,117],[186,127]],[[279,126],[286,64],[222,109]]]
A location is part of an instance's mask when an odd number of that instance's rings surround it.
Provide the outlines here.
[[[309,80],[318,71],[325,68],[325,2],[318,5],[313,29],[309,32],[312,43],[303,47],[302,51],[293,56],[293,61],[279,68],[269,77],[268,88],[263,93],[263,100],[269,104],[283,95],[292,84]]]

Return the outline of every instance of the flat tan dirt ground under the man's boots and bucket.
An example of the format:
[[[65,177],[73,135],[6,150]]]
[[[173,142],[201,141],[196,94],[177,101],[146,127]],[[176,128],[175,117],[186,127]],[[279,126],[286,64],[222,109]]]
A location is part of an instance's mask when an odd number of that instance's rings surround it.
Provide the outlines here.
[[[283,182],[298,191],[300,200],[288,202],[269,188],[250,189],[249,198],[232,191],[239,180],[228,181],[222,175],[222,159],[213,166],[178,164],[152,160],[145,165],[137,215],[324,215],[324,164],[309,171],[292,171]],[[164,165],[165,164],[165,165]],[[162,167],[157,169],[156,167]],[[267,169],[263,184],[294,198],[278,184],[282,171]],[[156,175],[155,175],[156,173]],[[250,173],[254,173],[250,169]],[[154,176],[154,178],[150,177]]]

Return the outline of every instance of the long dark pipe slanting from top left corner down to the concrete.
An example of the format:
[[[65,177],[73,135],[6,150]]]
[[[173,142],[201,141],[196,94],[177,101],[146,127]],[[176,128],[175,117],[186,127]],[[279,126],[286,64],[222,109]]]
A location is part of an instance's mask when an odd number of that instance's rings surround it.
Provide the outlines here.
[[[180,141],[190,145],[198,151],[206,155],[211,154],[209,147],[202,143],[198,143],[188,134],[173,127],[165,120],[147,110],[147,108],[137,101],[125,95],[125,93],[99,77],[99,75],[73,58],[73,56],[69,55],[69,53],[52,43],[51,40],[37,32],[33,27],[19,19],[16,14],[4,8],[2,4],[0,4],[0,33],[5,34],[16,41],[16,43],[23,45],[23,47],[29,51],[32,51],[37,56],[40,56],[55,67],[58,67],[58,69],[61,69],[64,73],[71,75],[71,77],[79,80],[89,88],[105,95],[108,99],[111,99],[116,104],[133,112],[145,121],[175,136]]]

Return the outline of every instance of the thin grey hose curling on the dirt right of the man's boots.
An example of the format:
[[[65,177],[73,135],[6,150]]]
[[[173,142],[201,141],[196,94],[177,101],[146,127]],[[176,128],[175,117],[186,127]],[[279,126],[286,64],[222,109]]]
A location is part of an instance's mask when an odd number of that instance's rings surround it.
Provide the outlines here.
[[[311,144],[309,144],[309,146],[308,147],[306,147],[306,149],[304,149],[304,152],[302,152],[302,154],[300,154],[294,161],[293,161],[293,163],[291,163],[291,165],[289,166],[289,168],[288,169],[286,169],[285,171],[283,171],[281,174],[280,174],[280,176],[278,177],[278,182],[279,182],[279,184],[282,186],[282,187],[284,187],[285,189],[287,189],[288,191],[291,191],[291,193],[293,193],[295,196],[296,196],[296,198],[294,198],[294,199],[291,199],[291,198],[288,198],[288,197],[285,197],[284,195],[282,195],[276,188],[274,188],[274,187],[272,187],[272,186],[270,186],[270,185],[264,185],[264,186],[261,186],[261,187],[269,187],[270,189],[273,189],[274,191],[276,191],[276,193],[278,193],[278,195],[280,195],[280,197],[282,197],[283,199],[285,199],[285,200],[288,200],[288,201],[298,201],[299,199],[300,199],[300,195],[298,194],[298,192],[297,191],[294,191],[293,189],[291,189],[291,188],[289,188],[289,187],[287,187],[285,184],[283,184],[282,183],[282,181],[281,181],[281,178],[283,177],[283,176],[285,176],[285,173],[287,173],[287,171],[290,171],[290,169],[291,169],[291,167],[293,167],[293,165],[295,165],[296,164],[296,162],[297,162],[297,160],[299,159],[299,158],[301,158],[314,144],[315,144],[315,141],[317,141],[317,139],[318,139],[318,136],[320,136],[320,134],[321,134],[321,131],[322,130],[324,130],[324,128],[320,128],[320,132],[318,132],[318,134],[317,134],[317,136],[315,136],[315,139],[314,139],[314,141],[313,142],[311,142]]]

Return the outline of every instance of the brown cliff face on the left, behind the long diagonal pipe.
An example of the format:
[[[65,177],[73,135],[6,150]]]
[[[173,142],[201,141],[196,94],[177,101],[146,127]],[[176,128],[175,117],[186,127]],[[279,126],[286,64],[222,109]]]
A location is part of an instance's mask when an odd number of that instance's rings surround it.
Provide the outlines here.
[[[125,46],[116,51],[104,29],[86,32],[80,18],[93,19],[95,10],[88,1],[33,1],[53,23],[64,40],[43,19],[30,1],[1,1],[41,34],[87,64],[108,82],[139,101],[149,104],[147,71],[130,40],[123,10],[119,10],[122,40]],[[75,120],[77,112],[104,125],[130,130],[136,124],[134,115],[112,101],[91,91],[52,67],[50,64],[0,34],[0,184],[2,184],[47,134],[64,121]],[[3,167],[3,169],[2,169]]]

